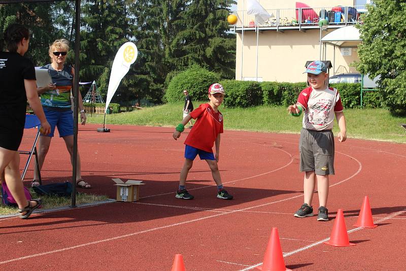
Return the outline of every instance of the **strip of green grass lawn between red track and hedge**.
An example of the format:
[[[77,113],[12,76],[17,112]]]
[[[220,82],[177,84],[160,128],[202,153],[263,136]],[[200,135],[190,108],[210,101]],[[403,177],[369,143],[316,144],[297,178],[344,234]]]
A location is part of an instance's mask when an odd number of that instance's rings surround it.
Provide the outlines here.
[[[197,107],[200,103],[193,102]],[[142,110],[107,115],[107,124],[173,126],[182,120],[183,102],[148,107]],[[299,133],[302,117],[292,117],[285,107],[259,106],[251,108],[220,107],[224,129]],[[345,109],[347,137],[406,143],[406,132],[399,125],[406,117],[394,117],[384,109]],[[104,115],[87,115],[89,123],[103,123]],[[333,132],[338,124],[334,121]]]

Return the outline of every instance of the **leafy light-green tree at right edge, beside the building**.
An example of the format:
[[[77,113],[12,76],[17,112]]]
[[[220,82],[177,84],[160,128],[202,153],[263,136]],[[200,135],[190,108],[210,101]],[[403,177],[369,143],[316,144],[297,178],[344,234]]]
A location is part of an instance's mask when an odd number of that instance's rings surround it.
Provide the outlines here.
[[[362,43],[355,65],[378,81],[383,104],[393,114],[406,114],[406,3],[376,0],[359,25]]]

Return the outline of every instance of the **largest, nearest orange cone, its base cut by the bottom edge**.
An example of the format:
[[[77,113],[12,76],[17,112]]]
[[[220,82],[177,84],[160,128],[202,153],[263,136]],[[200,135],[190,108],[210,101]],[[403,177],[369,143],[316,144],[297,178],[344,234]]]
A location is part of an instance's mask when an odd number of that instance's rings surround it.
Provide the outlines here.
[[[279,242],[278,228],[272,228],[270,232],[268,246],[266,247],[263,257],[262,266],[257,267],[262,271],[285,271],[291,270],[286,268],[283,260],[281,243]]]

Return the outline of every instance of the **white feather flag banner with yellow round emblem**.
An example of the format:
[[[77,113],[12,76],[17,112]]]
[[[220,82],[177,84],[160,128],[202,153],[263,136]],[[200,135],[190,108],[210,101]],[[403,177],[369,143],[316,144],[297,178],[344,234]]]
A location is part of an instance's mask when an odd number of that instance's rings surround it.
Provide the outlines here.
[[[138,49],[132,42],[124,43],[116,54],[111,68],[109,88],[107,90],[106,108],[109,107],[110,101],[114,93],[120,85],[121,79],[126,75],[130,69],[130,65],[134,63],[138,56]]]

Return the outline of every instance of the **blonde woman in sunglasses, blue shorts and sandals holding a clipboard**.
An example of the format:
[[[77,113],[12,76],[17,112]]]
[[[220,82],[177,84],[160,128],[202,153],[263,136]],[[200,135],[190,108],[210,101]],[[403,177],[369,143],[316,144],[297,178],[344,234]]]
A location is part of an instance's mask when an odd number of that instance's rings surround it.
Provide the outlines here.
[[[69,42],[61,39],[56,40],[49,46],[49,56],[51,63],[43,66],[48,69],[52,78],[52,84],[46,87],[38,88],[38,94],[41,95],[41,104],[44,107],[45,115],[51,124],[51,132],[48,135],[41,134],[38,144],[38,162],[40,168],[44,164],[45,156],[48,153],[51,139],[54,136],[55,127],[58,128],[59,137],[65,141],[67,151],[71,156],[73,163],[73,112],[72,112],[72,85],[74,79],[74,69],[65,64],[66,54],[69,51]],[[83,107],[82,95],[79,92],[79,109],[82,125],[86,123],[86,114]],[[77,156],[76,186],[81,188],[91,188],[90,184],[82,179],[80,156]],[[34,179],[32,186],[39,185],[39,176],[37,167],[34,167]]]

